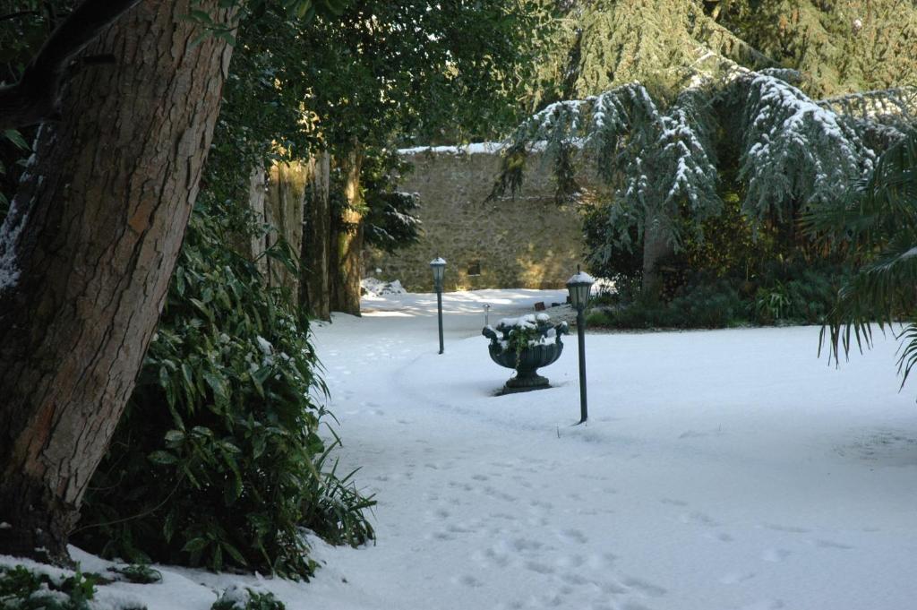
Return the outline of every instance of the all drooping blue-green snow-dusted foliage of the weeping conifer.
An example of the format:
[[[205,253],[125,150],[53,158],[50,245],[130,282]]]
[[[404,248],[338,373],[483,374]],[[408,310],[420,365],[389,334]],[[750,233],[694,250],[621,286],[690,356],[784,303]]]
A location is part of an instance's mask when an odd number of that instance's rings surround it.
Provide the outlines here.
[[[515,132],[495,194],[518,188],[532,150],[543,150],[569,190],[576,168],[591,167],[613,188],[602,205],[604,244],[591,253],[597,266],[632,250],[634,235],[654,235],[676,251],[686,236],[704,237],[703,223],[723,209],[723,139],[739,149],[742,207],[753,222],[834,202],[870,170],[875,153],[856,121],[784,80],[793,75],[727,62],[718,78],[698,73],[668,104],[628,83],[548,105]],[[654,262],[645,260],[645,270]]]

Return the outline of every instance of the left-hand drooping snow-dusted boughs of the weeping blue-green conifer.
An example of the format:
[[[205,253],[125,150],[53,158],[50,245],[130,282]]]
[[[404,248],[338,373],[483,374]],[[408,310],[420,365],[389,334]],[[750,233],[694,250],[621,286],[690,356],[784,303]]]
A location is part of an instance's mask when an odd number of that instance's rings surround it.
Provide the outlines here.
[[[569,182],[565,174],[572,171],[569,154],[575,150],[580,167],[593,167],[604,183],[615,187],[608,202],[611,241],[630,249],[631,229],[642,236],[652,223],[678,247],[682,205],[698,236],[700,221],[722,208],[716,194],[712,123],[707,94],[700,88],[679,95],[668,113],[659,110],[641,83],[558,102],[516,130],[500,186],[518,188],[525,157],[534,150],[542,153],[542,163],[556,173],[558,183]]]

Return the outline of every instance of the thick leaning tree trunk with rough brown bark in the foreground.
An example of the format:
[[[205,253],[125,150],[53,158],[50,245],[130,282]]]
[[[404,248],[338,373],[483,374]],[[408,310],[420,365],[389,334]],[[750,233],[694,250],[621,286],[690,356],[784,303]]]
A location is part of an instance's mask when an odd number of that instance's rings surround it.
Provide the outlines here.
[[[0,228],[0,553],[68,560],[156,327],[231,52],[190,9],[145,0],[87,48],[117,65],[72,81]]]

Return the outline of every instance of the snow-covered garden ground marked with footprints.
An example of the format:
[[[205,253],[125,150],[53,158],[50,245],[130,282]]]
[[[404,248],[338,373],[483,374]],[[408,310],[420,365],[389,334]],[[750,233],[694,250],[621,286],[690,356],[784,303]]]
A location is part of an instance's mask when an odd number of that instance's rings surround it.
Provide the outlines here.
[[[446,294],[442,355],[431,294],[316,327],[379,541],[316,542],[313,582],[262,586],[291,610],[917,607],[917,385],[897,392],[893,340],[837,369],[817,327],[591,333],[573,427],[575,336],[555,387],[494,396],[510,372],[480,335],[484,303],[493,322],[564,297]],[[163,571],[116,592],[204,610],[258,581]]]

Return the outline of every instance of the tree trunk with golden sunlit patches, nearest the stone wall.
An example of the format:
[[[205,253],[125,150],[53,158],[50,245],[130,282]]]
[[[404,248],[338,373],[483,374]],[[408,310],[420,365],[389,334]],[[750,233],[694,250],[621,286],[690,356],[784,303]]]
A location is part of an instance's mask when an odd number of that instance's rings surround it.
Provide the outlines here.
[[[347,209],[340,217],[333,254],[337,268],[332,273],[331,309],[359,316],[359,281],[363,274],[363,206],[359,187],[362,162],[359,148],[342,164]]]

